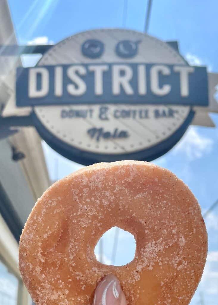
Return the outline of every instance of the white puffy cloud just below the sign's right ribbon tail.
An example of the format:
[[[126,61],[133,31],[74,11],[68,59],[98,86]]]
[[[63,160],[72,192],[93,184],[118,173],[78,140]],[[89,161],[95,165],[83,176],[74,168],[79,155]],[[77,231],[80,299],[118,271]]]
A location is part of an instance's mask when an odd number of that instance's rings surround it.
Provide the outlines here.
[[[200,135],[195,127],[189,127],[180,142],[173,149],[173,154],[185,153],[189,161],[200,159],[209,153],[213,147],[213,140]]]

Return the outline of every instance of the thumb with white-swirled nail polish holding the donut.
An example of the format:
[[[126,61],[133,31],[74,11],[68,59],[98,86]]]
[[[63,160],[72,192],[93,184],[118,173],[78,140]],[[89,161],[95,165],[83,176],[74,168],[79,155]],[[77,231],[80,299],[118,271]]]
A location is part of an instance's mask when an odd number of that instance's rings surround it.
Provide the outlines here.
[[[106,275],[98,284],[93,305],[127,305],[126,297],[115,275]]]

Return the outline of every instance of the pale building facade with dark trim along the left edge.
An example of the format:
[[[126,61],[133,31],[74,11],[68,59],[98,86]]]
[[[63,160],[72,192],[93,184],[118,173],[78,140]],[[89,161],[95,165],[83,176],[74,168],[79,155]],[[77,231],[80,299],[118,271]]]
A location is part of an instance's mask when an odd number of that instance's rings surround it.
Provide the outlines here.
[[[0,20],[0,45],[16,45],[6,0],[0,2]],[[1,112],[14,91],[16,66],[21,65],[19,56],[0,54]],[[34,203],[49,185],[41,139],[34,128],[5,129],[0,138],[1,305],[29,305],[32,302],[18,269],[19,238]]]

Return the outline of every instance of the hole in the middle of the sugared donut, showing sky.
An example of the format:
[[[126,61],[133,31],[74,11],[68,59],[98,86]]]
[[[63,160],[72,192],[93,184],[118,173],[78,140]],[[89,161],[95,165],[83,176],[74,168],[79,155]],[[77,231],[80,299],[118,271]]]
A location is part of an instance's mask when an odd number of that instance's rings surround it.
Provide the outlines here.
[[[95,257],[105,265],[123,266],[134,260],[134,236],[119,227],[106,231],[95,246]]]

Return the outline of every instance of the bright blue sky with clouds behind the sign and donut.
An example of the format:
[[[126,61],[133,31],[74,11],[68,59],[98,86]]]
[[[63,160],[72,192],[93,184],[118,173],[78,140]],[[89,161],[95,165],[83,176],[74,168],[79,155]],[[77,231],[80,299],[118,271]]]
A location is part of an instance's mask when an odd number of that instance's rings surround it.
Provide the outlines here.
[[[19,44],[56,43],[67,36],[94,28],[124,27],[143,31],[145,0],[9,0]],[[210,0],[154,0],[148,34],[164,41],[177,40],[180,53],[193,65],[206,65],[218,73],[218,2]],[[37,58],[28,56],[26,65]],[[218,199],[218,114],[210,114],[216,127],[188,127],[179,143],[153,163],[181,178],[194,193],[202,213]],[[63,178],[81,165],[54,152],[43,142],[52,181]],[[209,252],[202,280],[191,301],[194,304],[217,304],[218,298],[218,206],[205,218]],[[104,262],[112,263],[116,229],[103,237]],[[125,264],[134,257],[134,239],[119,231],[115,264]],[[96,248],[98,256],[99,247]],[[123,255],[125,253],[125,257]],[[125,261],[124,262],[124,258]]]

